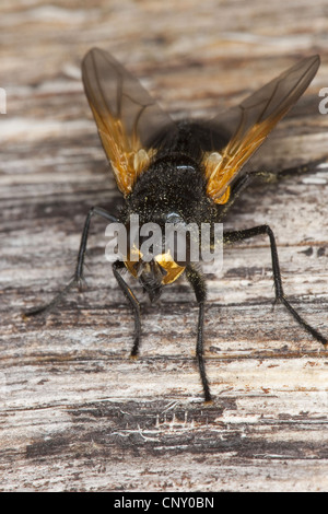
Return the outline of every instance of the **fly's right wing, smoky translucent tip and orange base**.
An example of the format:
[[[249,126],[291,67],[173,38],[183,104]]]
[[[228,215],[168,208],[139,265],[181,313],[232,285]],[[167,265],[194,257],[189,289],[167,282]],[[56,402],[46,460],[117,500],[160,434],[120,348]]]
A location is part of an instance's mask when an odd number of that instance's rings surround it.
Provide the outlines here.
[[[303,59],[237,107],[209,121],[209,137],[214,151],[206,152],[202,163],[207,195],[215,203],[229,200],[230,184],[307,89],[319,63],[319,56]],[[227,142],[222,148],[224,138]]]

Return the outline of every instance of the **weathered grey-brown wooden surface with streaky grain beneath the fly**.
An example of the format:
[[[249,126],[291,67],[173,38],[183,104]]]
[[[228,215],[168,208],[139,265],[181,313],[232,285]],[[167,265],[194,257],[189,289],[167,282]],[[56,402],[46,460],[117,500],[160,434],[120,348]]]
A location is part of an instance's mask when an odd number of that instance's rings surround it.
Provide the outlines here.
[[[143,341],[129,359],[133,323],[101,221],[87,290],[46,319],[21,317],[69,280],[89,208],[119,202],[82,92],[87,49],[112,51],[176,117],[234,105],[318,52],[318,75],[265,152],[277,170],[307,173],[254,185],[226,227],[270,224],[286,294],[328,335],[327,2],[16,0],[1,2],[0,26],[1,490],[327,490],[328,355],[272,308],[265,237],[227,248],[209,277],[211,405],[185,281],[156,305],[136,285]]]

